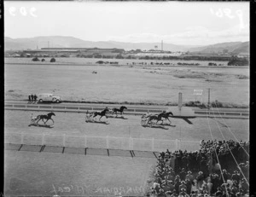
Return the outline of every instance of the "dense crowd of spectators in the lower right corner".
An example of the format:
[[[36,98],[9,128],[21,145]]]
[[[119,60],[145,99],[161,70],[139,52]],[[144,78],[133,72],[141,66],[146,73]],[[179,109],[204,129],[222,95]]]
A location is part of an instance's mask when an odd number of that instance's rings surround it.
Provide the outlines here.
[[[195,152],[159,154],[150,194],[157,197],[248,196],[249,142],[201,141]]]

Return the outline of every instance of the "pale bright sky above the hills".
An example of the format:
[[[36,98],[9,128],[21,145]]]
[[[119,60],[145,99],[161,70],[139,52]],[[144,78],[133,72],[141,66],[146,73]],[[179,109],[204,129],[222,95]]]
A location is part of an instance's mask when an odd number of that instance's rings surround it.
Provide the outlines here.
[[[249,2],[4,2],[9,38],[207,45],[249,41]]]

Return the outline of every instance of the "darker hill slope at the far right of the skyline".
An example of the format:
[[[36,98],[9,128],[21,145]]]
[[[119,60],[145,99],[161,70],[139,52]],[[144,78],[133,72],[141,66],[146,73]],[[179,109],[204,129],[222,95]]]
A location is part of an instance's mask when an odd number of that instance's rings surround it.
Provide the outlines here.
[[[249,54],[249,42],[216,43],[204,47],[190,48],[189,52],[222,53],[224,50],[232,55],[238,55],[239,53]]]

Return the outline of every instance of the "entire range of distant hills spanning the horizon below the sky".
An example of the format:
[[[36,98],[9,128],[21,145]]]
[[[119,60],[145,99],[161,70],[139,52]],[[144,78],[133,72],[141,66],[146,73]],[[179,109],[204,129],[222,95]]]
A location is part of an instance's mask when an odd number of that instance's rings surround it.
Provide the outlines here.
[[[102,48],[102,49],[154,49],[154,46],[161,48],[160,43],[124,43],[116,41],[85,41],[79,38],[52,36],[35,38],[4,38],[4,50],[41,49],[47,47],[55,48]],[[164,43],[163,49],[168,51],[189,51],[200,53],[230,52],[234,55],[240,53],[249,54],[249,42],[216,43],[206,46],[177,45]]]

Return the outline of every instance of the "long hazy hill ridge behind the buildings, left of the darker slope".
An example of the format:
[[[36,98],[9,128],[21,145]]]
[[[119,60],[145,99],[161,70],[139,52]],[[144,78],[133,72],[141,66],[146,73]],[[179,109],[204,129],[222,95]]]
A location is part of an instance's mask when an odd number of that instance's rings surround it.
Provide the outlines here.
[[[49,47],[77,47],[77,48],[118,48],[118,49],[154,49],[154,46],[158,46],[160,49],[160,43],[123,43],[116,41],[100,41],[100,42],[91,42],[84,41],[79,38],[73,37],[62,37],[62,36],[53,36],[53,37],[35,37],[35,38],[4,38],[4,49],[5,50],[22,50],[22,49],[41,49]],[[164,43],[165,50],[171,51],[186,51],[193,46],[184,46],[176,45],[172,43]]]

